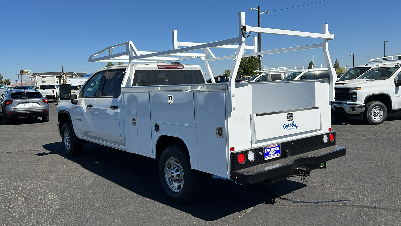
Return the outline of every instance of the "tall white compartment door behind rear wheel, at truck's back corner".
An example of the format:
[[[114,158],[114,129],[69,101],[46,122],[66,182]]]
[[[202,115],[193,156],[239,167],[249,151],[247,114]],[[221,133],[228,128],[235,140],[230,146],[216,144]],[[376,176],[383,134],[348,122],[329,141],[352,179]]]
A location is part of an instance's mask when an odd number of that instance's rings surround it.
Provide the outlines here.
[[[229,173],[225,92],[198,92],[196,96],[199,166],[207,173],[225,176]],[[222,138],[216,135],[217,127],[223,128]]]

